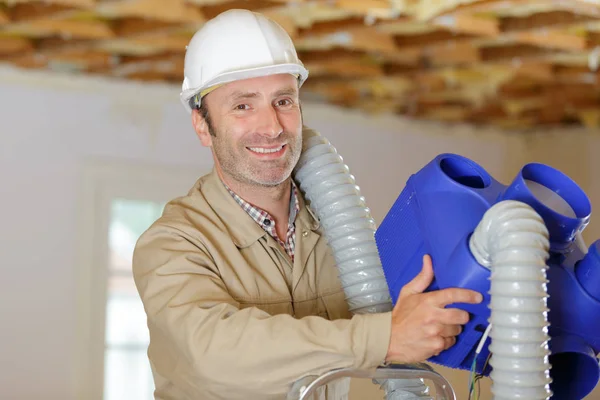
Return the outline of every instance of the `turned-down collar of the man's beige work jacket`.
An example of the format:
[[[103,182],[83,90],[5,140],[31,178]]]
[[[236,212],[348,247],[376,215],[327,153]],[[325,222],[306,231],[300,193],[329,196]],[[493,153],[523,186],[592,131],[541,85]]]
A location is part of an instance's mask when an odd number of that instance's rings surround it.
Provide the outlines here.
[[[235,201],[219,178],[216,169],[206,176],[199,187],[206,201],[219,215],[226,225],[233,242],[237,247],[248,247],[261,237],[267,235],[264,231]],[[319,228],[319,221],[307,207],[302,192],[298,190],[300,211],[296,217],[296,226],[300,221],[303,227],[311,230]]]

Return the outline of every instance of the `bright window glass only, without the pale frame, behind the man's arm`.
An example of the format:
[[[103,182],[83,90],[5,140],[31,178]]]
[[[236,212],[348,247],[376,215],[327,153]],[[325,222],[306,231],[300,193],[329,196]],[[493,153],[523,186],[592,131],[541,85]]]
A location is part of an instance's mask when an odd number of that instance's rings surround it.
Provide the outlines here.
[[[164,204],[114,199],[108,232],[104,400],[152,400],[146,314],[131,273],[137,239]]]

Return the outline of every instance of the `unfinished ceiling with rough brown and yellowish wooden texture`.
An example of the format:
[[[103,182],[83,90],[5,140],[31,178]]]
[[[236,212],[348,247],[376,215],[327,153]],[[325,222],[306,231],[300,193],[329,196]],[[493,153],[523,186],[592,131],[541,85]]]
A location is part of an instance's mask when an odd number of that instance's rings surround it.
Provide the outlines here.
[[[0,61],[180,85],[189,39],[230,8],[279,22],[330,103],[600,128],[600,0],[0,0]]]

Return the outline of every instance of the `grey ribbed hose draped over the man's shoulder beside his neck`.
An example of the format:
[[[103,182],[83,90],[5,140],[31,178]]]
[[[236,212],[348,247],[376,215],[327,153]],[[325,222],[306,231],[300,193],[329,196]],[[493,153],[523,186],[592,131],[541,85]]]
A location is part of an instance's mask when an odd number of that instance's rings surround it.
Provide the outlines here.
[[[376,224],[349,168],[329,141],[309,130],[295,180],[323,225],[352,313],[392,309],[377,244]],[[422,379],[379,382],[390,400],[433,400]]]

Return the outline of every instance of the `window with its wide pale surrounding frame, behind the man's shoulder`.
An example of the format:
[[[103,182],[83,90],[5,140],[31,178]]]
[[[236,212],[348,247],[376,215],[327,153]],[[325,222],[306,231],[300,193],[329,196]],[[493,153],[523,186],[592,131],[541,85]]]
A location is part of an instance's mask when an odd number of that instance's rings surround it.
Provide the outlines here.
[[[206,171],[84,167],[78,269],[78,400],[152,400],[148,327],[131,260],[139,236]]]

